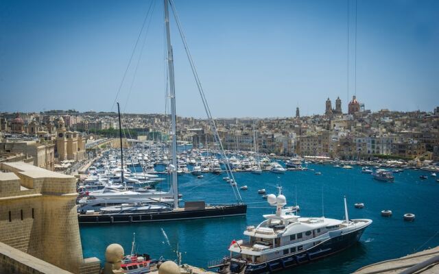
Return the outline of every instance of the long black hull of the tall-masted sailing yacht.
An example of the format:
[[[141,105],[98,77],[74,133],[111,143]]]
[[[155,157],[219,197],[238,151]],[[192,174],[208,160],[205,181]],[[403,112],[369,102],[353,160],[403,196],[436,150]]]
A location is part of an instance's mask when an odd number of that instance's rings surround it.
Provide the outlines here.
[[[78,214],[79,223],[143,223],[187,219],[204,219],[224,216],[238,216],[247,213],[247,205],[215,206],[204,210],[179,210],[150,213],[124,214]]]

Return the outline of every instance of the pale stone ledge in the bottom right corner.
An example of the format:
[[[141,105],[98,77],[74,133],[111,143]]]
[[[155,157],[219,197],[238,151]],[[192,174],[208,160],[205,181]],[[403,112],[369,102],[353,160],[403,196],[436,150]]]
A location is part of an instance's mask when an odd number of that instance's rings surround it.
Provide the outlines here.
[[[358,269],[354,274],[439,273],[439,247],[426,249],[394,260],[385,260]]]

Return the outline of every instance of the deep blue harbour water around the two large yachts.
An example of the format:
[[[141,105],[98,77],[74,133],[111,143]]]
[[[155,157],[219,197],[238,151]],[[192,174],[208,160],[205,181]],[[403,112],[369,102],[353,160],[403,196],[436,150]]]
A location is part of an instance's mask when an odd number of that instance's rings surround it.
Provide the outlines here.
[[[136,232],[139,252],[150,253],[153,258],[163,256],[176,260],[175,250],[178,247],[184,263],[206,267],[210,260],[228,254],[231,240],[245,238],[242,233],[247,225],[256,225],[263,221],[262,214],[274,212],[257,190],[265,188],[268,193],[275,193],[279,183],[289,205],[296,203],[297,188],[297,203],[302,216],[322,216],[324,210],[326,217],[343,219],[343,196],[346,195],[350,219],[373,220],[357,245],[324,260],[299,266],[294,273],[351,273],[366,264],[439,245],[439,235],[436,234],[439,232],[439,183],[431,176],[419,179],[419,175],[429,173],[405,170],[395,174],[393,183],[385,183],[361,173],[359,167],[340,169],[317,164],[309,168],[315,171],[262,175],[235,173],[238,184],[248,186],[248,190],[240,190],[242,199],[248,203],[247,216],[81,226],[84,257],[95,256],[104,260],[105,249],[113,242],[121,244],[129,252],[132,233]],[[322,175],[314,175],[317,171]],[[180,175],[179,190],[184,195],[183,199],[187,200],[233,203],[236,199],[231,187],[222,180],[223,176],[205,174],[203,179],[197,179],[192,175]],[[354,208],[353,204],[358,202],[365,203],[365,208]],[[382,217],[380,212],[384,209],[392,210],[393,216]],[[416,214],[414,222],[403,221],[403,214],[407,212]]]

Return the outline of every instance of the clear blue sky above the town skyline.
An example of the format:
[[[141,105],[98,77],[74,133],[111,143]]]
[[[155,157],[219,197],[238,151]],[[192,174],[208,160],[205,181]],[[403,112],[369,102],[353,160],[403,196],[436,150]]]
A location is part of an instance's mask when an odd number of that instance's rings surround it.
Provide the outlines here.
[[[439,1],[174,3],[214,117],[439,105]],[[161,0],[1,0],[0,112],[169,113],[163,22]],[[177,114],[206,117],[174,18],[171,43]]]

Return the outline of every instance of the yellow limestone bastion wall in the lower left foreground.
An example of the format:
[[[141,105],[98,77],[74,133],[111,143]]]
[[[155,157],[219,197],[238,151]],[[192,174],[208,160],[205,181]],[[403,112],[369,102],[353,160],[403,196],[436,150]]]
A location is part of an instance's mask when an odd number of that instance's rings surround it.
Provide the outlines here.
[[[73,176],[0,163],[0,273],[99,273],[99,260],[82,256],[75,186]]]

